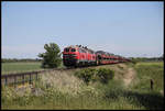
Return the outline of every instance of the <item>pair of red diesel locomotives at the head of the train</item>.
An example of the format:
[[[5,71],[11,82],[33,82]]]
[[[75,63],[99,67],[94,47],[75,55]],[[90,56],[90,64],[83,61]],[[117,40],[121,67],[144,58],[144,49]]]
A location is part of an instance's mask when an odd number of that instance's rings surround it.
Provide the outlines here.
[[[96,64],[94,51],[81,46],[68,46],[63,52],[63,63],[65,66],[85,66]]]

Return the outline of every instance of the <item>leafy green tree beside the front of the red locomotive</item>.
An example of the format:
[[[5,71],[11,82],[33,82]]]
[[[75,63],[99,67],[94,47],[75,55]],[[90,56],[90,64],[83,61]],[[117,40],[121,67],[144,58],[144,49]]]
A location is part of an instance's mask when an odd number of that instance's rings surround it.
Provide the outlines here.
[[[38,57],[42,57],[42,67],[43,68],[55,68],[58,67],[62,63],[61,49],[57,44],[50,43],[44,45],[46,49],[45,53],[38,54]]]

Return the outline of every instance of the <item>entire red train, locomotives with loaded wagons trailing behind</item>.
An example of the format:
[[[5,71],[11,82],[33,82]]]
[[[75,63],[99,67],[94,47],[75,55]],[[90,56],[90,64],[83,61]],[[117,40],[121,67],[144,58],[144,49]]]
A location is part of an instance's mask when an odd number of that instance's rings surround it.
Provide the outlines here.
[[[63,64],[66,67],[108,65],[125,62],[131,62],[131,59],[105,51],[95,52],[81,45],[70,45],[63,51]]]

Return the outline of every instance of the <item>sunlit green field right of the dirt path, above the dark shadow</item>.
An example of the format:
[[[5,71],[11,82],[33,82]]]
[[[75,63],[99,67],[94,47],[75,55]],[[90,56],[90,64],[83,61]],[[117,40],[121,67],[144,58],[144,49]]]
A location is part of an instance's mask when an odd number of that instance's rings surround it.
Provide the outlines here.
[[[150,90],[150,80],[154,80],[154,91],[164,90],[164,63],[139,63],[135,66],[139,84],[133,88]]]

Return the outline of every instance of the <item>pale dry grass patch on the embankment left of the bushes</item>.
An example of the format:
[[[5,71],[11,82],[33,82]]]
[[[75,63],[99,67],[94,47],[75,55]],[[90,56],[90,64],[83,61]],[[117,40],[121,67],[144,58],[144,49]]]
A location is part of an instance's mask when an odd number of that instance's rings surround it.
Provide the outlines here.
[[[70,95],[78,93],[84,86],[82,80],[72,75],[70,71],[65,70],[55,70],[41,75],[41,81],[47,87],[53,87],[61,92]]]

